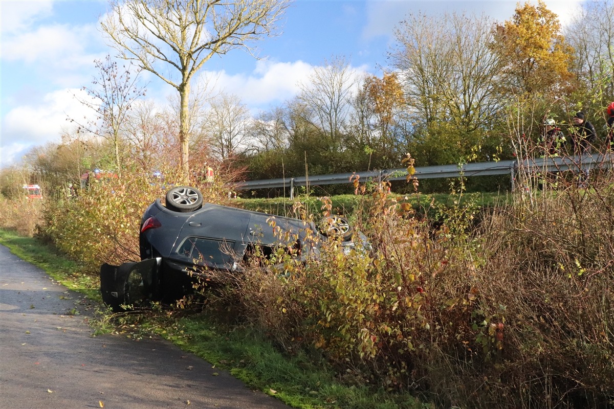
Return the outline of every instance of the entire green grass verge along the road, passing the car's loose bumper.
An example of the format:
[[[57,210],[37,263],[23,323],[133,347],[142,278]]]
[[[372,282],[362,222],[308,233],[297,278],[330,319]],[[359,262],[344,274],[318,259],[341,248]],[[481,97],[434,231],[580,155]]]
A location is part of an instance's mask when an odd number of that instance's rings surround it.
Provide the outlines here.
[[[4,230],[0,230],[0,243],[21,259],[41,267],[62,285],[101,302],[98,281],[80,273],[77,262],[64,258],[53,247]],[[97,334],[117,332],[132,338],[159,334],[216,368],[228,370],[249,387],[295,408],[432,408],[409,394],[343,384],[315,352],[283,354],[267,340],[266,334],[253,327],[220,324],[206,314],[176,318],[181,313],[158,305],[151,310],[111,315],[101,305],[90,323]]]

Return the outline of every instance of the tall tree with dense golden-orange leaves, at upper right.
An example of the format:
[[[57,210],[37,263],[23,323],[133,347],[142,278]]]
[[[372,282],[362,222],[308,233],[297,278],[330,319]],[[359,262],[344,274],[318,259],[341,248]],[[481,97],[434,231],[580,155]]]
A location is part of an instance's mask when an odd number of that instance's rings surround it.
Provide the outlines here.
[[[511,20],[494,28],[492,50],[502,58],[502,83],[513,94],[562,93],[573,75],[572,48],[556,13],[539,0],[518,5]]]

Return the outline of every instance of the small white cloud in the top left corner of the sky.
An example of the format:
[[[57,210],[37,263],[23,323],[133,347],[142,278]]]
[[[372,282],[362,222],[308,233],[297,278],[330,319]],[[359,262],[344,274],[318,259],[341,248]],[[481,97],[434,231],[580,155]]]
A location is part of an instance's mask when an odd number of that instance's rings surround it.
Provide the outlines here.
[[[52,9],[51,0],[0,1],[0,32],[3,37],[12,32],[21,32],[34,21],[52,13]]]

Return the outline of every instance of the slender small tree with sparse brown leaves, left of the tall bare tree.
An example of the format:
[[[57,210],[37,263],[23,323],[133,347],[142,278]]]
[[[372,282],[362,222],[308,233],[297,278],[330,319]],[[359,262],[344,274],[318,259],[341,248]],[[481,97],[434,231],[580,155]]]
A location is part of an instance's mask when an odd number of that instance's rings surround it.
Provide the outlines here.
[[[144,86],[139,85],[140,69],[119,67],[107,55],[104,60],[94,61],[98,74],[91,86],[84,86],[87,97],[75,98],[95,112],[92,120],[69,118],[79,126],[79,133],[89,133],[111,143],[115,172],[122,172],[122,126],[128,119],[128,112],[139,97],[145,95]],[[133,72],[134,71],[134,72]]]

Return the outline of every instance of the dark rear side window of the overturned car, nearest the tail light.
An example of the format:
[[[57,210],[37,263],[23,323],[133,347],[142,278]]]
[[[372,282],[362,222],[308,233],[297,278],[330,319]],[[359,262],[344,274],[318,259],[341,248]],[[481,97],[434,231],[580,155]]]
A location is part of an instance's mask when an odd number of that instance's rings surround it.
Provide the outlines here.
[[[204,237],[188,237],[177,249],[177,254],[206,266],[230,265],[235,242],[228,240],[206,239]]]

